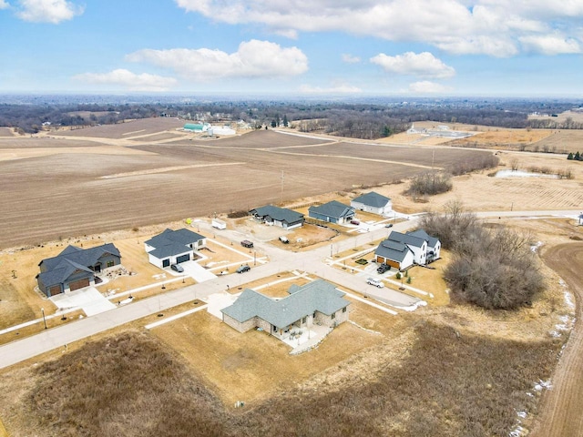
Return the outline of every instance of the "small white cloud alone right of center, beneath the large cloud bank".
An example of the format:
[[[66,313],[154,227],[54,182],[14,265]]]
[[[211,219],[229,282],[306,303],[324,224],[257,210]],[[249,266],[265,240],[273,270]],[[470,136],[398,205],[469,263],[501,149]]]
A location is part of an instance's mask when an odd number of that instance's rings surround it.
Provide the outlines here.
[[[455,76],[455,69],[446,66],[429,52],[415,54],[406,52],[403,55],[387,56],[381,53],[371,57],[371,62],[382,66],[387,73],[402,76],[420,76],[446,78]]]

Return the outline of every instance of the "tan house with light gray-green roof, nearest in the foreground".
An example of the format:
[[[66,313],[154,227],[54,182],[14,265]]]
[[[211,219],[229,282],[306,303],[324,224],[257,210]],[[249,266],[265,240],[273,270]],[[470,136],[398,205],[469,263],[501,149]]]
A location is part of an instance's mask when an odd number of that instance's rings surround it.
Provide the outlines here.
[[[222,320],[231,328],[245,332],[261,328],[278,339],[286,339],[293,328],[309,328],[313,324],[336,327],[348,320],[350,302],[345,293],[323,279],[306,285],[292,285],[289,296],[280,300],[246,289],[227,308]]]

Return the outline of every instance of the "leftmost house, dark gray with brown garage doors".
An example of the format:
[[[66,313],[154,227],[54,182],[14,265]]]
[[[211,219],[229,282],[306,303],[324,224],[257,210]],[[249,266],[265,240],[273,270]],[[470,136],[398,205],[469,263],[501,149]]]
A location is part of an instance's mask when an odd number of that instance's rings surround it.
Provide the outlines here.
[[[38,288],[50,298],[66,291],[94,286],[96,272],[120,263],[121,255],[112,243],[91,249],[67,246],[56,257],[40,261],[36,281]]]

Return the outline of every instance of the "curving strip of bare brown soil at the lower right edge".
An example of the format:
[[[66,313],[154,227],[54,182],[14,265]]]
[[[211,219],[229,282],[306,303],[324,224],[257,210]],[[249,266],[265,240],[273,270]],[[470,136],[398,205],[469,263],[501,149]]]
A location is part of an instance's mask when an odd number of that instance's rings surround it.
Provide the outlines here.
[[[535,437],[583,436],[583,243],[566,243],[543,253],[547,266],[568,284],[577,300],[577,321],[539,406]]]

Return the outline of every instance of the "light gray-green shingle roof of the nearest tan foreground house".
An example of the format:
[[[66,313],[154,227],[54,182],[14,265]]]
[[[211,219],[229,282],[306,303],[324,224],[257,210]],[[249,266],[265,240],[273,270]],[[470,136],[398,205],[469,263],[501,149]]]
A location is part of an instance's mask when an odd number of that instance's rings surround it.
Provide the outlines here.
[[[273,326],[285,328],[314,311],[330,315],[350,304],[343,299],[343,291],[323,279],[302,287],[292,286],[289,292],[290,295],[281,300],[272,300],[255,290],[246,289],[238,300],[221,311],[241,323],[257,316]]]

